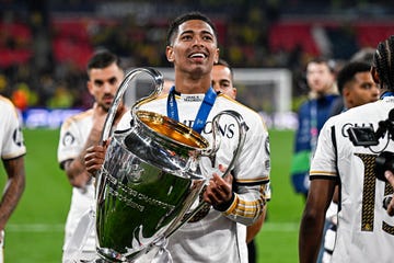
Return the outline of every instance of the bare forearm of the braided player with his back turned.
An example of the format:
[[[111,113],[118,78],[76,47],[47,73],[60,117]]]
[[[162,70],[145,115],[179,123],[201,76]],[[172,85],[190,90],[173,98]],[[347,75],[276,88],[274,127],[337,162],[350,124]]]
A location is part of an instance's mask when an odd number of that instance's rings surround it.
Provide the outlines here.
[[[311,181],[300,227],[300,263],[316,262],[323,236],[325,214],[333,199],[334,188],[334,180],[314,179]]]

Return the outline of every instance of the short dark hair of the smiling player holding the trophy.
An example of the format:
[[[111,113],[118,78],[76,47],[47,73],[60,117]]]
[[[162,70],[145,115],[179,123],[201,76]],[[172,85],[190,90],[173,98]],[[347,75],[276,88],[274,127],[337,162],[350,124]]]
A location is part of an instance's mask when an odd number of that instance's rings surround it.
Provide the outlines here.
[[[167,31],[167,35],[166,35],[166,45],[167,46],[172,45],[174,35],[178,32],[179,25],[189,20],[201,20],[201,21],[206,22],[207,24],[209,24],[209,26],[212,27],[212,30],[213,30],[216,38],[218,39],[218,31],[217,31],[217,27],[215,26],[213,22],[208,16],[204,15],[202,13],[193,11],[193,12],[182,14],[182,15],[177,16],[175,20],[173,20],[173,22],[171,22],[169,31]]]

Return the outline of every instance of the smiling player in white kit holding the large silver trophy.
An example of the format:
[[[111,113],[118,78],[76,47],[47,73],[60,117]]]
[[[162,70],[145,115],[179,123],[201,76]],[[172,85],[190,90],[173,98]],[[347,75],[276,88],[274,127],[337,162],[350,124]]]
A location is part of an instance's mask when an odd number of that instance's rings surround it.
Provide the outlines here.
[[[269,194],[267,128],[256,112],[228,96],[217,95],[210,87],[219,48],[215,25],[208,18],[195,12],[177,18],[167,34],[166,57],[174,64],[175,87],[169,95],[141,105],[141,110],[184,123],[210,142],[212,118],[222,111],[240,113],[247,125],[245,145],[233,172],[223,179],[218,173],[232,159],[237,145],[237,125],[230,116],[221,118],[220,149],[215,160],[202,158],[201,165],[204,174],[210,178],[204,199],[212,207],[175,231],[169,238],[167,250],[173,262],[247,262],[245,235],[240,238],[236,222],[252,225],[257,220]],[[208,114],[204,116],[201,112]],[[101,146],[88,149],[88,171],[96,171],[103,163],[104,152]]]

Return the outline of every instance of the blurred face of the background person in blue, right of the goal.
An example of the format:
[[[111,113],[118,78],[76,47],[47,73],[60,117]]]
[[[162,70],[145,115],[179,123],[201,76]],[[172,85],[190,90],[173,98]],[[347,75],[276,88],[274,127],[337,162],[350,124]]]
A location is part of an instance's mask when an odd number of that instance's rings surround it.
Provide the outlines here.
[[[306,81],[311,91],[325,93],[334,84],[335,77],[325,62],[310,62],[306,67]]]

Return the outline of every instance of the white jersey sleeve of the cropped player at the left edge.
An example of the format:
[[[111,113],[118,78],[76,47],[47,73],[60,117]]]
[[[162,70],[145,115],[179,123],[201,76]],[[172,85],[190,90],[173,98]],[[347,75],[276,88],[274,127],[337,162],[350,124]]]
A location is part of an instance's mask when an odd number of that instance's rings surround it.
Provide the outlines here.
[[[13,159],[26,153],[18,112],[12,102],[0,95],[0,156]]]

